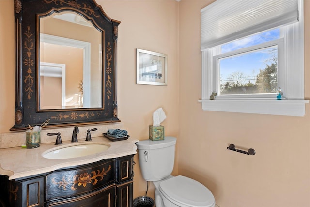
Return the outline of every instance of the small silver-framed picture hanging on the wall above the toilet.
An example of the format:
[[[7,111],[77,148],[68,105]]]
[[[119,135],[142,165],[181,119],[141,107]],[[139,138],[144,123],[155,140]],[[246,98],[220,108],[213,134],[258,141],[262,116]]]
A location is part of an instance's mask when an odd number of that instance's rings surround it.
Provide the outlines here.
[[[137,84],[167,85],[167,55],[137,48]]]

